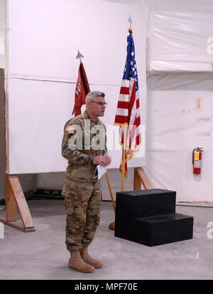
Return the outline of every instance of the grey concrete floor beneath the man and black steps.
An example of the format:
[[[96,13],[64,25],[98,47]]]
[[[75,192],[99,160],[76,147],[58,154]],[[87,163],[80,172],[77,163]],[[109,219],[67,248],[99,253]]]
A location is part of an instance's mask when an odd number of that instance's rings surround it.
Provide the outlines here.
[[[62,200],[28,200],[35,232],[4,226],[0,239],[0,279],[59,280],[195,280],[213,278],[213,236],[208,222],[213,209],[176,206],[176,212],[194,217],[194,236],[187,241],[148,247],[114,236],[108,229],[114,221],[111,202],[102,201],[101,222],[90,254],[103,261],[94,273],[67,267],[65,209]],[[0,216],[5,215],[5,210]]]

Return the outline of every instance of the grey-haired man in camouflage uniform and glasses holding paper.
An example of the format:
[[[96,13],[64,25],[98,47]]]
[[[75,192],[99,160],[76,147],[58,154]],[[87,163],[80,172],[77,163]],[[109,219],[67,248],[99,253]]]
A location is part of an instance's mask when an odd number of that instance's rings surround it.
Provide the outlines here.
[[[62,156],[68,160],[62,195],[67,212],[66,245],[70,251],[69,267],[84,273],[102,267],[89,256],[91,244],[99,224],[101,186],[94,178],[98,164],[111,163],[107,155],[106,127],[98,119],[104,116],[106,102],[103,92],[89,92],[84,114],[65,124]]]

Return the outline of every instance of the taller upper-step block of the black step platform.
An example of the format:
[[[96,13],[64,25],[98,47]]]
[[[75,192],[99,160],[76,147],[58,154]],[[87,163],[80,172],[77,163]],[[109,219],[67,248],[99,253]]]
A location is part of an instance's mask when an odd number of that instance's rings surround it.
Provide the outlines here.
[[[176,192],[163,189],[116,193],[115,236],[136,240],[135,219],[175,212]]]

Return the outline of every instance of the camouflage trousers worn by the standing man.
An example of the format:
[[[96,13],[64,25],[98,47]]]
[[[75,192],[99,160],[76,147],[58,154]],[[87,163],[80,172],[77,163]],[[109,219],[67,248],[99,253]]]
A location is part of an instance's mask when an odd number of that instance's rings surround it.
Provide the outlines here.
[[[92,243],[100,219],[101,186],[97,183],[66,181],[66,240],[68,251],[79,250]]]

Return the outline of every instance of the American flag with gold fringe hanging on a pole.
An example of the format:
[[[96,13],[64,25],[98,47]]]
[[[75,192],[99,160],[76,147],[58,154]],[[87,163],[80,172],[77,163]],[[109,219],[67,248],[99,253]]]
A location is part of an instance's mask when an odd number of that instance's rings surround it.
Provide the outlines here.
[[[119,101],[116,109],[116,117],[114,125],[120,126],[120,143],[124,146],[124,128],[128,126],[126,136],[126,158],[124,175],[127,178],[127,161],[129,161],[135,151],[141,145],[140,133],[140,102],[138,92],[138,73],[136,68],[135,47],[133,43],[132,28],[129,28],[129,36],[127,37],[127,55],[124,68],[124,75],[121,82],[121,90]],[[124,148],[123,148],[124,153]],[[123,154],[120,164],[120,172],[122,171]]]

